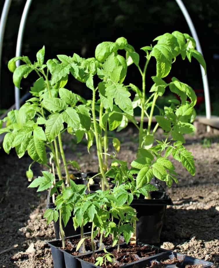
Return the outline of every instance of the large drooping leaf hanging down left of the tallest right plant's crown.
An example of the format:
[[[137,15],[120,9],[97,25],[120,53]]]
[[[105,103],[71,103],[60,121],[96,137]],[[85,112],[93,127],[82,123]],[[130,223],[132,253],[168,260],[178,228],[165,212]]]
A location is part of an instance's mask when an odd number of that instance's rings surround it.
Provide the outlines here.
[[[157,44],[153,47],[151,56],[155,57],[157,61],[156,76],[160,78],[166,77],[169,74],[172,65],[173,54],[171,49],[163,44]]]

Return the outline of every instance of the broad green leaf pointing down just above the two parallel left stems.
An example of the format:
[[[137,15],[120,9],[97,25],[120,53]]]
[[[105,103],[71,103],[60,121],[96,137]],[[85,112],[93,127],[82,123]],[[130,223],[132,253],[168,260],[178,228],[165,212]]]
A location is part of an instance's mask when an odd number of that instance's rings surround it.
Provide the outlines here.
[[[52,142],[55,140],[55,137],[60,133],[61,130],[63,130],[63,117],[62,114],[54,113],[49,116],[49,119],[46,120],[46,138],[48,139],[48,142]]]

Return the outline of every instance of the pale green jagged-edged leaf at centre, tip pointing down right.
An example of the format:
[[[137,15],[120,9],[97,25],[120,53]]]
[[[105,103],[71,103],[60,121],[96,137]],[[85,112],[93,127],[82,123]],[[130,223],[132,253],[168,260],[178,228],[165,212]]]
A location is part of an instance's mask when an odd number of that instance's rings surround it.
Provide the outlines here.
[[[106,96],[108,101],[114,99],[116,105],[129,115],[133,115],[133,107],[130,97],[130,93],[122,84],[109,83],[106,84]],[[111,107],[112,111],[112,107]]]

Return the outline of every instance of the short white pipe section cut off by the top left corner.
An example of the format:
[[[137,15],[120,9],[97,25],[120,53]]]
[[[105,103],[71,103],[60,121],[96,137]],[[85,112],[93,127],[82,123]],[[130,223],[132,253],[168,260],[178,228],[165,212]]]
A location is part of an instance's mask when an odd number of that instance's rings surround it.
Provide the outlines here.
[[[7,21],[8,11],[9,11],[9,8],[11,5],[11,1],[12,0],[5,1],[4,6],[3,6],[3,10],[1,13],[1,21],[0,21],[0,97],[1,97],[1,55],[2,55],[5,26],[6,26],[6,21]]]

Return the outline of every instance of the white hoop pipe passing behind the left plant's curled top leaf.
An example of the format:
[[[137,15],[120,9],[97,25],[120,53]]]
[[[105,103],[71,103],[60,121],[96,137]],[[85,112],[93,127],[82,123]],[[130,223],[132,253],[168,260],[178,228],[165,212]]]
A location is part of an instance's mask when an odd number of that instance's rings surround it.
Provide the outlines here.
[[[23,9],[22,17],[21,17],[21,22],[18,30],[18,35],[17,35],[17,46],[16,46],[16,57],[21,56],[21,47],[22,47],[22,39],[23,39],[23,31],[28,15],[28,11],[30,8],[32,0],[27,0],[26,4]],[[20,61],[16,62],[16,66],[18,67],[20,65]],[[20,108],[20,90],[15,86],[15,108],[18,110]]]

